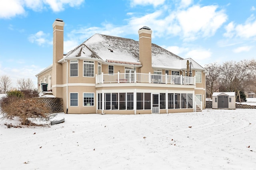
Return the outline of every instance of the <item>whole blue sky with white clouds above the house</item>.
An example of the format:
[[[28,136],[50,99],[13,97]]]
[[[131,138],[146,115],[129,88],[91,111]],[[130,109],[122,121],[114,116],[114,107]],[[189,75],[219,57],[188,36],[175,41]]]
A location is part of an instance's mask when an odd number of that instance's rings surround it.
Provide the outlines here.
[[[65,22],[64,53],[94,34],[152,43],[200,65],[256,59],[256,0],[2,0],[0,75],[13,87],[52,63],[52,24]]]

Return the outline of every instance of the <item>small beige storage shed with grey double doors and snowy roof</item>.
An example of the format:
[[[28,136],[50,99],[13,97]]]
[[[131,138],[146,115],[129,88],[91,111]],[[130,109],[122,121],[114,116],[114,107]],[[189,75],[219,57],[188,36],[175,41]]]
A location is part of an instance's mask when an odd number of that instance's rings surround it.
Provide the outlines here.
[[[214,92],[212,94],[212,109],[236,109],[236,93]]]

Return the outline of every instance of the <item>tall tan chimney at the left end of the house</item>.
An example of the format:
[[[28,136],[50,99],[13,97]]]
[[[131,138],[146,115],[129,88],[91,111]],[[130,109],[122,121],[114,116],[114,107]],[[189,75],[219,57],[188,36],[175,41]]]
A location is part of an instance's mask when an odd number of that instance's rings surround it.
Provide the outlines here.
[[[53,28],[53,62],[52,62],[52,93],[55,97],[62,97],[62,64],[58,63],[63,58],[64,22],[56,19]]]

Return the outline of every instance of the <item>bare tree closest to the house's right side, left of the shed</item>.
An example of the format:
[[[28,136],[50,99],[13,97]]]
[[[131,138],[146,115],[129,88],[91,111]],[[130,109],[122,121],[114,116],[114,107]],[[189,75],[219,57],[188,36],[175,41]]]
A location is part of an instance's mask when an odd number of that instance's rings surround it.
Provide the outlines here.
[[[209,97],[212,97],[212,93],[219,89],[219,77],[220,77],[220,65],[217,63],[210,63],[204,67],[207,70],[206,73],[206,89]]]

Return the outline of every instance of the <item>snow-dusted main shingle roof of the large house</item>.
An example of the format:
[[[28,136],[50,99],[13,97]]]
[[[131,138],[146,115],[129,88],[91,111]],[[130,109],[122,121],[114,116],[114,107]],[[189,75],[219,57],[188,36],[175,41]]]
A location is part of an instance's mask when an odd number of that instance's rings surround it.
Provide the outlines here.
[[[85,57],[102,59],[103,61],[120,61],[120,63],[140,63],[139,42],[128,38],[94,34],[64,57]],[[152,43],[152,67],[185,69],[187,60],[192,63],[192,69],[204,69],[193,59],[183,59]]]

